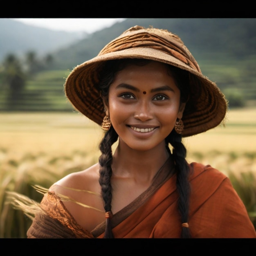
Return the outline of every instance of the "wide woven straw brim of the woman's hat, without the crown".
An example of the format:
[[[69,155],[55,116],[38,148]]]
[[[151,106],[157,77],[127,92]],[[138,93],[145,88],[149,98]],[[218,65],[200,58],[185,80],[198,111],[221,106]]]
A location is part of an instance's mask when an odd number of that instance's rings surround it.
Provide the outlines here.
[[[183,137],[205,132],[218,126],[227,111],[227,101],[218,86],[202,73],[194,70],[179,59],[149,47],[124,49],[98,55],[90,61],[76,66],[65,81],[65,94],[83,115],[101,125],[105,116],[103,101],[95,85],[99,82],[98,72],[104,61],[121,58],[144,58],[179,67],[192,74],[191,95],[182,117]]]

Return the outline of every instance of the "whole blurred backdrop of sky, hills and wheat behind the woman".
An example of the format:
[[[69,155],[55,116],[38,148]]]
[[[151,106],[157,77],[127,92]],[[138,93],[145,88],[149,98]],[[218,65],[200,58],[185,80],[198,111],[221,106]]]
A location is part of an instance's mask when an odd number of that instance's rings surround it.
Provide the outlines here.
[[[102,130],[75,112],[65,78],[110,40],[141,25],[180,36],[229,101],[225,126],[184,139],[188,161],[229,176],[256,226],[255,18],[0,18],[0,238],[26,237],[31,219],[6,191],[40,202],[49,188],[98,160]]]

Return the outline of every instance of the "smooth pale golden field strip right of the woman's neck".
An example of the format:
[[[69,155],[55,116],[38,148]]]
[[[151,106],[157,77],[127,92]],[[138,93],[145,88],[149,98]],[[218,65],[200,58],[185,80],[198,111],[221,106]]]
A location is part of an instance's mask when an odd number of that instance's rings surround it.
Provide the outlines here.
[[[235,151],[256,153],[256,108],[230,110],[224,126],[188,137],[184,142],[190,151],[207,153]]]

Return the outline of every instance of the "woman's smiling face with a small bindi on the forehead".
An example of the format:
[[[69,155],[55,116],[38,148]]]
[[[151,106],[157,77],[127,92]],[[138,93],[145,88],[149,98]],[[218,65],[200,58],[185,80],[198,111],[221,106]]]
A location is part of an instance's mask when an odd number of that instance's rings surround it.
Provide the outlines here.
[[[108,104],[119,143],[134,150],[150,150],[173,130],[182,118],[180,90],[163,63],[128,65],[119,71],[109,88]]]

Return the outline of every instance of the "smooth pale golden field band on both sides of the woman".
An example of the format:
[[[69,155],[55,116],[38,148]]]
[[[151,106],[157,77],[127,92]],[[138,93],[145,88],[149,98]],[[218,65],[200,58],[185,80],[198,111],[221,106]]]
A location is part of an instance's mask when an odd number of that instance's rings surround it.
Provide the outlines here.
[[[0,113],[0,148],[15,153],[97,151],[103,132],[79,113]],[[256,152],[256,108],[231,110],[226,127],[184,138],[189,152]]]

